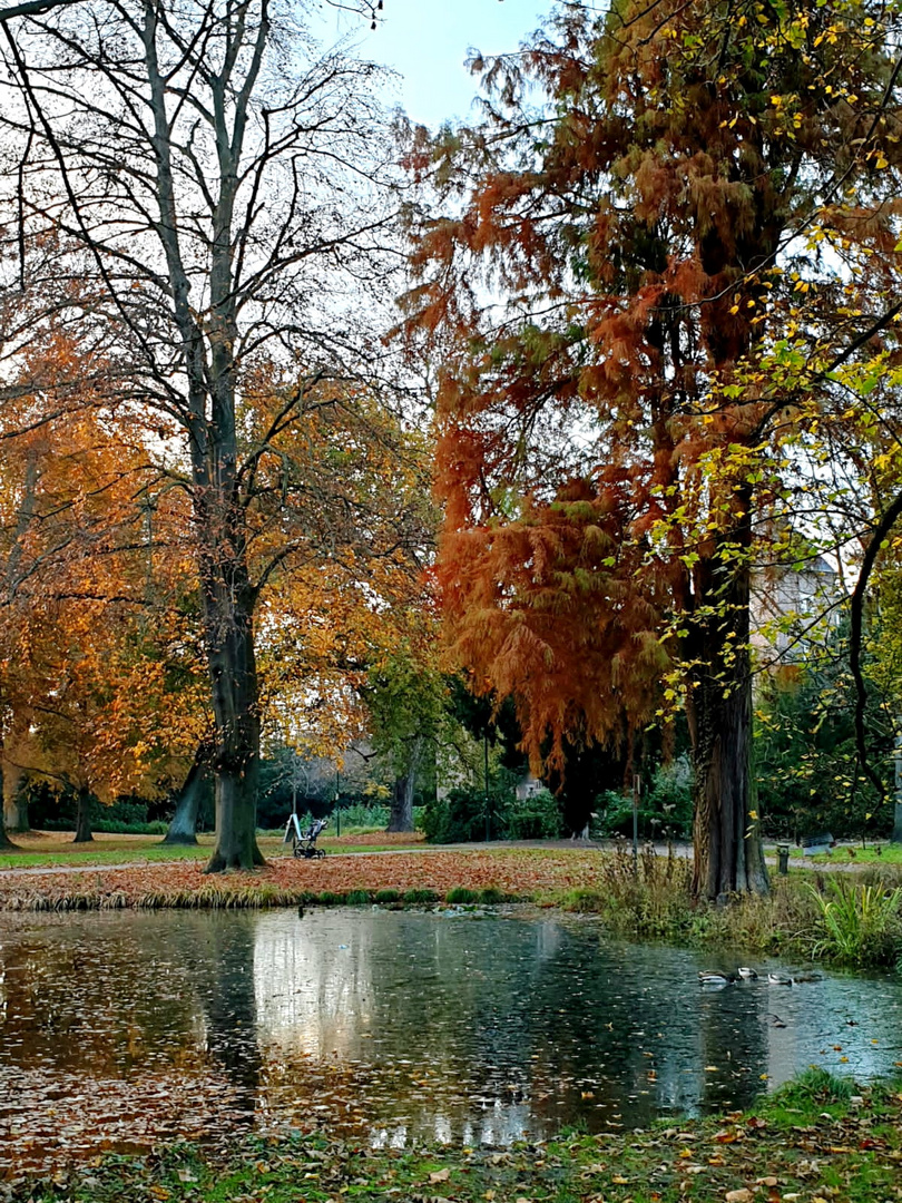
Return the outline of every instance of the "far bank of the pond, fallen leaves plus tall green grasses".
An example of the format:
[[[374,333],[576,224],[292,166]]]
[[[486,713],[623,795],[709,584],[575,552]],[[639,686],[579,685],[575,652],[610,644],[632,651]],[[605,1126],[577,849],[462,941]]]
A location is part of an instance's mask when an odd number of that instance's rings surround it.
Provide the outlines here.
[[[729,906],[692,896],[692,865],[594,849],[498,848],[398,852],[390,857],[273,860],[257,873],[206,877],[197,861],[105,871],[0,873],[0,909],[369,906],[497,901],[592,913],[612,935],[711,949],[744,949],[850,967],[890,967],[902,949],[898,870],[775,877],[767,897]]]

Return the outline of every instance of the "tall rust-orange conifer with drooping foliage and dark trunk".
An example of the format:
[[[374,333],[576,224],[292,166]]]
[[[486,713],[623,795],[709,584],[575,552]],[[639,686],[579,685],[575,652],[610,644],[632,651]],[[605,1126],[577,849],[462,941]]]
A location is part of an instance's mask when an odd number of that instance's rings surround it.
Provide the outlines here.
[[[819,262],[818,197],[856,182],[871,219],[847,213],[847,236],[892,237],[883,19],[844,0],[562,6],[520,55],[476,63],[480,128],[410,149],[445,200],[415,219],[407,304],[444,352],[455,646],[552,768],[564,736],[616,741],[683,697],[711,897],[767,888],[749,582],[795,399],[773,352]]]

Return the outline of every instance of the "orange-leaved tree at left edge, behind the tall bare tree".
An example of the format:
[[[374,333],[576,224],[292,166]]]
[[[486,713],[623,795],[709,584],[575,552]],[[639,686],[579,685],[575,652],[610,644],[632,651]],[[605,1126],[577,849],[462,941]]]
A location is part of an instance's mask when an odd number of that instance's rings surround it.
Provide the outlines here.
[[[166,498],[148,540],[159,474],[141,425],[113,427],[85,383],[96,367],[53,338],[1,427],[5,768],[11,786],[30,772],[71,787],[77,840],[91,795],[165,787],[208,723],[184,505]]]

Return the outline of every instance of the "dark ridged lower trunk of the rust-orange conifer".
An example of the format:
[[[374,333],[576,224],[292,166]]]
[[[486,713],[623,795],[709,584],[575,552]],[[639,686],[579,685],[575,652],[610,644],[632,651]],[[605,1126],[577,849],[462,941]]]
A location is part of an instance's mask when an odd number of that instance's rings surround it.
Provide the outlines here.
[[[740,506],[749,508],[740,494]],[[725,537],[728,553],[702,565],[696,597],[710,616],[694,638],[704,654],[689,692],[693,745],[693,889],[724,901],[731,894],[766,894],[767,869],[752,800],[752,675],[749,662],[749,568],[736,546],[749,546],[744,522]],[[734,561],[731,563],[731,561]]]

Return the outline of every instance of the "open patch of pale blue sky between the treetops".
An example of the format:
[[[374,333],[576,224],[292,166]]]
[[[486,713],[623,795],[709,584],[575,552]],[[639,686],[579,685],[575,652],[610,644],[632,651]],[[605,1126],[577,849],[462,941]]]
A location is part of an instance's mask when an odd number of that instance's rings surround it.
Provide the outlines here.
[[[360,53],[400,72],[393,102],[435,128],[470,114],[476,79],[463,65],[468,49],[516,51],[551,8],[552,0],[384,0],[384,20],[374,32],[363,26]],[[325,5],[322,19],[326,41],[361,25]]]

